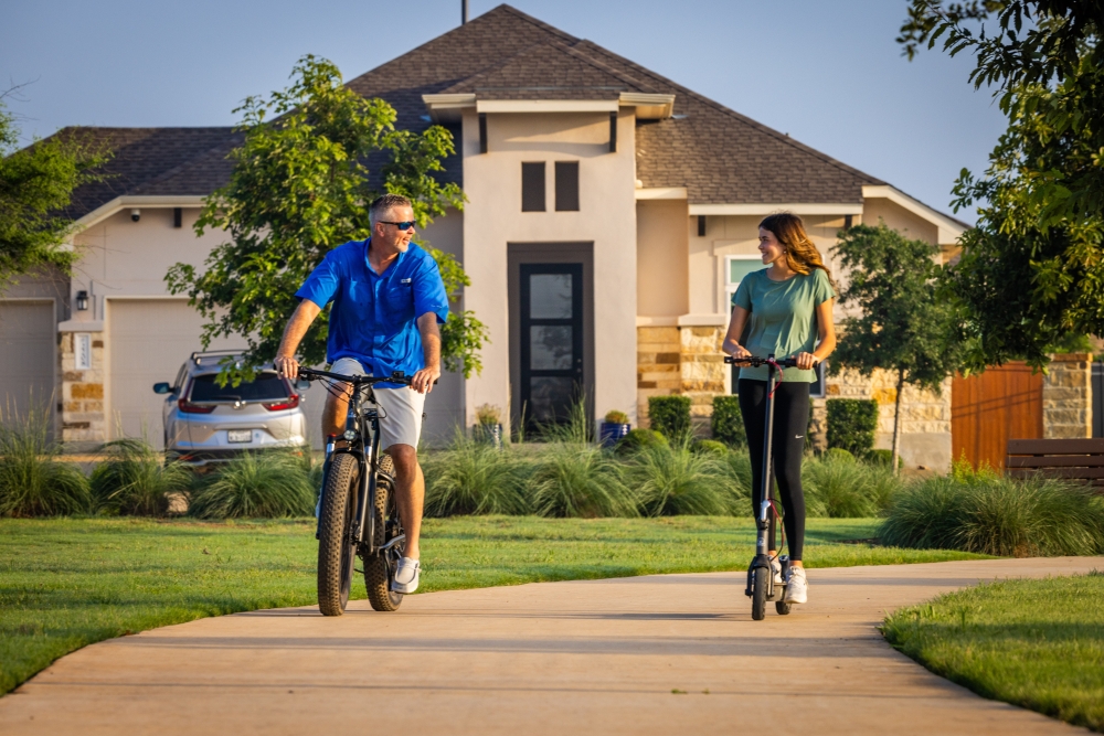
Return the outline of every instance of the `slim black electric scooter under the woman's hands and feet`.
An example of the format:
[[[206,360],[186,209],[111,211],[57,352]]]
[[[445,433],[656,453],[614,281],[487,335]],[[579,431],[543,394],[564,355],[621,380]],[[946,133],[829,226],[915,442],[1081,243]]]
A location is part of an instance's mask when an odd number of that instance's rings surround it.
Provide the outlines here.
[[[758,367],[767,366],[766,382],[766,422],[764,422],[763,438],[763,472],[760,473],[760,498],[763,499],[760,508],[755,512],[755,526],[758,534],[755,538],[755,557],[747,567],[747,587],[744,595],[752,599],[752,619],[762,621],[766,616],[766,605],[774,601],[774,608],[782,616],[789,614],[790,604],[785,601],[786,580],[789,575],[789,555],[779,555],[778,562],[782,564],[782,585],[774,582],[774,569],[771,567],[773,557],[771,550],[775,546],[775,523],[778,519],[778,506],[774,502],[774,462],[772,457],[774,439],[774,390],[777,386],[777,373],[785,367],[797,367],[797,361],[793,358],[775,360],[769,358],[732,358],[726,355],[725,363],[735,365],[747,365]],[[785,532],[783,532],[783,544],[785,544]]]

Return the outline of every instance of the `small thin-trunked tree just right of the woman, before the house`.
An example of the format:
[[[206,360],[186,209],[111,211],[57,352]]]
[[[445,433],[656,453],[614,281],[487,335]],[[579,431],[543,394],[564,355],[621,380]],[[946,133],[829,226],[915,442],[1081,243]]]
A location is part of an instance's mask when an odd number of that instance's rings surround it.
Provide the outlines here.
[[[841,324],[832,371],[874,369],[896,374],[893,412],[893,472],[901,455],[901,395],[906,384],[942,393],[957,367],[954,309],[937,295],[940,249],[910,241],[884,224],[856,225],[839,234],[836,253],[851,282],[840,303],[861,309]]]

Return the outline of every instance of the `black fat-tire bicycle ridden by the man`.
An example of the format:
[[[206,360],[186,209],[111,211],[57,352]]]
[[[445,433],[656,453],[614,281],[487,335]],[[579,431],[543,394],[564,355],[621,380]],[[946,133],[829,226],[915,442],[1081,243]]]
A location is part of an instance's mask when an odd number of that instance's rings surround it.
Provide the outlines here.
[[[372,393],[378,383],[410,385],[402,371],[390,377],[340,375],[299,369],[307,381],[332,380],[352,386],[344,434],[326,446],[318,531],[318,608],[341,616],[349,602],[355,561],[364,563],[368,600],[378,611],[394,611],[403,594],[393,593],[399,562],[406,546],[395,503],[394,463],[380,456],[380,409]],[[343,440],[337,447],[335,440]]]

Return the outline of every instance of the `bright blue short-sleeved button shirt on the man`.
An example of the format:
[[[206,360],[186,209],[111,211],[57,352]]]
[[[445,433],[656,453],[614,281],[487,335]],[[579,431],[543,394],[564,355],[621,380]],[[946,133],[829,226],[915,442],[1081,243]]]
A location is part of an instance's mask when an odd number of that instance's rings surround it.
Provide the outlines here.
[[[438,324],[448,318],[440,270],[433,256],[411,243],[381,276],[368,263],[368,244],[352,241],[330,250],[295,296],[320,308],[333,302],[326,344],[331,363],[354,358],[372,375],[414,375],[425,367],[415,320],[426,312],[436,313]]]

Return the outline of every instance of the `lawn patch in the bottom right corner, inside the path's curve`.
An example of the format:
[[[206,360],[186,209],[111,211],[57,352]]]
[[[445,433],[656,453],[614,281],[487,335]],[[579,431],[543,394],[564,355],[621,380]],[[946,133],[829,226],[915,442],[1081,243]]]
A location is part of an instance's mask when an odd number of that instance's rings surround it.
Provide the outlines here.
[[[1104,573],[958,590],[885,620],[890,643],[979,695],[1104,732]]]

